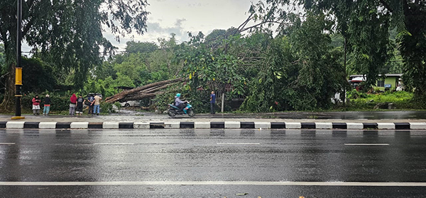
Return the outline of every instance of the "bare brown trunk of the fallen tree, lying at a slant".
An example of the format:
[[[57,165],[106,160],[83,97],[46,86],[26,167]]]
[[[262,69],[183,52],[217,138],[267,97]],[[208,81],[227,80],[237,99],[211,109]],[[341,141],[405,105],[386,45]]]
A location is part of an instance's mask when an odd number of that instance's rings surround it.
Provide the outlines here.
[[[108,97],[105,102],[115,103],[117,101],[125,102],[128,100],[142,100],[144,98],[153,98],[155,97],[155,95],[164,93],[165,88],[168,88],[169,86],[182,81],[182,78],[176,78],[172,80],[151,83],[145,86],[133,88],[131,90],[122,91],[121,93],[117,93],[116,95],[112,95],[111,97]]]

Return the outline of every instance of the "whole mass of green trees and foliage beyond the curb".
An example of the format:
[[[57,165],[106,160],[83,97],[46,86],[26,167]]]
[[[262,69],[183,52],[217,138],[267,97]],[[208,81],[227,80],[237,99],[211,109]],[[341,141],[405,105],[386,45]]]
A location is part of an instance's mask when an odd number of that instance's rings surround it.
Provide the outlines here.
[[[1,5],[12,4],[11,0],[5,2],[0,3],[0,7],[8,8]],[[111,3],[96,2],[91,3],[93,7]],[[136,27],[136,32],[141,34],[145,31],[146,1],[137,2],[138,6],[124,9],[140,15],[117,16],[118,21],[126,20],[119,21],[121,25],[114,26],[112,33],[123,36],[131,27]],[[330,2],[260,2],[251,6],[247,20],[237,28],[213,30],[208,35],[189,33],[190,39],[184,42],[176,40],[174,34],[158,38],[158,42],[130,41],[124,52],[118,52],[102,36],[102,24],[109,23],[105,21],[109,13],[85,11],[87,6],[63,7],[62,3],[55,3],[58,5],[53,5],[53,10],[46,14],[55,16],[55,12],[62,13],[60,9],[77,9],[90,13],[90,18],[101,19],[87,21],[80,15],[72,18],[75,15],[71,14],[62,16],[58,23],[43,21],[45,16],[33,16],[31,20],[35,23],[28,23],[33,25],[28,28],[32,32],[23,33],[33,47],[31,57],[24,57],[22,63],[24,112],[30,108],[29,101],[35,94],[41,98],[45,93],[53,95],[52,111],[61,112],[67,110],[71,93],[101,93],[107,98],[118,93],[120,86],[138,87],[174,78],[185,81],[170,86],[155,98],[143,100],[144,109],[162,112],[173,102],[174,95],[181,93],[185,100],[192,100],[197,112],[208,112],[210,91],[217,93],[218,104],[222,102],[222,93],[225,95],[226,112],[374,110],[376,106],[383,110],[383,104],[389,106],[389,103],[392,103],[391,109],[425,109],[426,58],[420,52],[426,51],[426,21],[417,20],[426,16],[425,6],[417,1],[404,1],[410,4],[404,7],[376,0],[351,1],[350,4]],[[300,3],[303,14],[277,9],[293,3]],[[417,12],[415,8],[419,7],[422,9]],[[0,11],[4,13],[0,15],[1,21],[7,21],[3,16],[14,16],[9,8]],[[116,14],[125,13],[128,12]],[[415,17],[405,18],[413,15]],[[76,20],[87,23],[73,26]],[[75,33],[72,30],[80,32],[66,35],[73,38],[70,40],[55,35],[38,37],[48,35],[43,34],[46,28],[40,24],[53,24],[52,28],[60,30],[53,34],[61,34],[62,30],[67,34]],[[57,24],[60,25],[57,27]],[[0,35],[14,35],[16,28],[9,26],[11,29]],[[0,110],[11,112],[15,53],[12,46],[16,40],[0,38],[0,99],[3,101]],[[89,45],[84,48],[81,43]],[[100,52],[99,46],[105,51]],[[366,74],[367,80],[361,86],[371,87],[378,80],[378,74],[386,73],[404,74],[406,90],[413,92],[367,94],[351,91],[347,83],[351,74]],[[332,96],[344,95],[345,91],[349,92],[351,101],[345,106],[333,104]],[[104,112],[113,110],[107,103],[103,109]]]

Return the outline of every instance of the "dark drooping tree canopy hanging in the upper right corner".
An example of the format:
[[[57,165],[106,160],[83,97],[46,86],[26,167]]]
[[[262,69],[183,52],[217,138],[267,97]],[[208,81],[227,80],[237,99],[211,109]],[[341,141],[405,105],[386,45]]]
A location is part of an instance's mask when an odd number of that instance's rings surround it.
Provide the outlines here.
[[[353,71],[366,74],[368,86],[376,82],[377,74],[392,58],[389,29],[396,28],[405,82],[415,88],[418,98],[426,98],[424,0],[270,0],[266,4],[259,1],[250,11],[250,19],[261,21],[256,28],[279,24],[279,32],[291,18],[304,18],[303,12],[328,13],[334,20],[334,31],[344,36],[347,52],[354,57]]]

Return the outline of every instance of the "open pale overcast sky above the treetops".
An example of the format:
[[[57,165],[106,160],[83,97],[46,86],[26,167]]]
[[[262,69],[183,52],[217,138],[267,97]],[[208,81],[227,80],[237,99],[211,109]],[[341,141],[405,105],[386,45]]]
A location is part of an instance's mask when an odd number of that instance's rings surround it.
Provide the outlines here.
[[[257,2],[257,0],[253,1]],[[214,29],[238,27],[248,16],[250,0],[148,0],[147,32],[143,35],[133,34],[136,42],[157,42],[158,37],[168,38],[176,34],[179,42],[188,40],[187,32],[202,31],[208,35]],[[116,42],[109,30],[104,33],[113,45],[124,50],[131,35],[121,37]]]

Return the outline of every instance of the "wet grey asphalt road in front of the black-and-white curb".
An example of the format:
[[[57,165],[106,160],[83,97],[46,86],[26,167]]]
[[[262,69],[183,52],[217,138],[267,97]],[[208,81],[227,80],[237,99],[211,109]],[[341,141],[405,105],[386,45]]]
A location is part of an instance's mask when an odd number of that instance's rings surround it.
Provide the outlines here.
[[[425,149],[426,131],[7,129],[0,197],[425,197],[386,185],[426,182]]]

